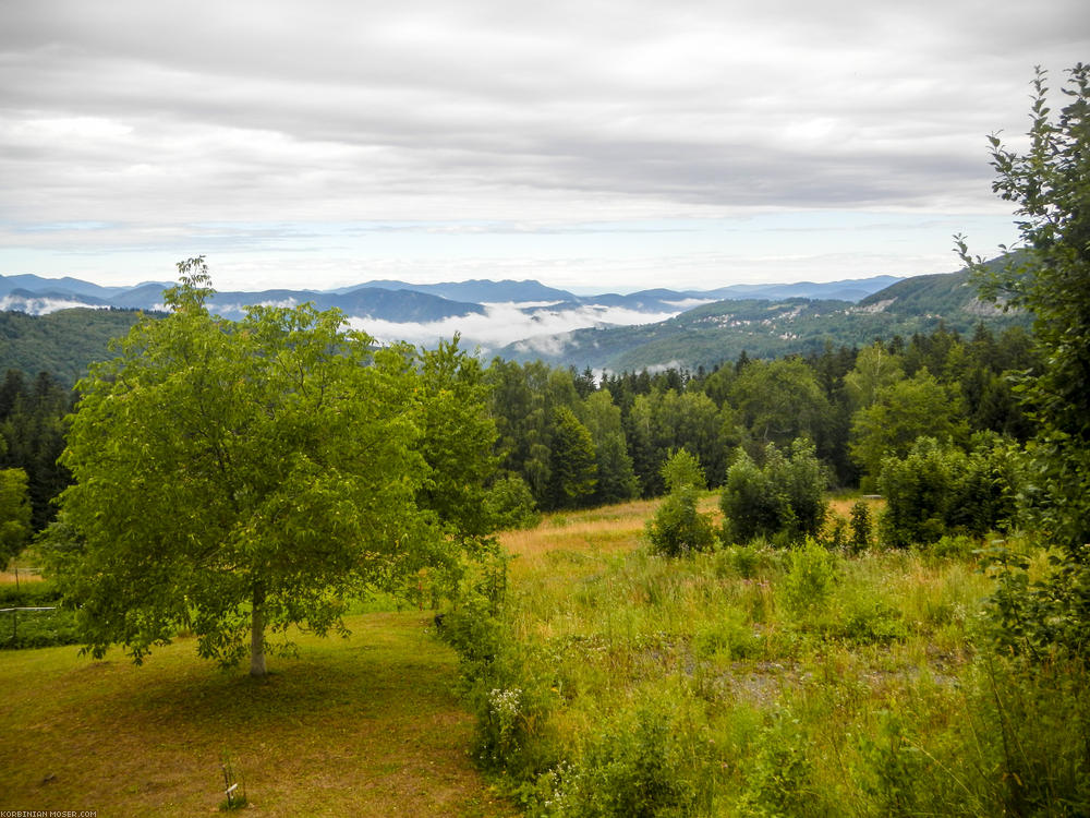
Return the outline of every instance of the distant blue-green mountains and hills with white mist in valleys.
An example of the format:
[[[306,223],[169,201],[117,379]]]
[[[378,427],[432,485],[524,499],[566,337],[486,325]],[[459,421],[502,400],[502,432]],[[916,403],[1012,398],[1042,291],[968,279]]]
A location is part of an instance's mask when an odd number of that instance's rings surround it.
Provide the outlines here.
[[[101,287],[75,278],[0,276],[0,370],[47,369],[75,380],[89,361],[108,354],[106,338],[123,334],[137,311],[161,310],[162,290],[169,286]],[[475,346],[485,357],[617,372],[712,366],[742,350],[773,357],[813,351],[826,342],[858,346],[929,332],[940,322],[968,330],[981,321],[1028,321],[980,302],[964,270],[596,296],[533,280],[375,280],[337,290],[217,292],[210,306],[225,317],[238,317],[246,304],[304,301],[340,309],[353,326],[379,341],[431,346],[460,333],[463,346]]]

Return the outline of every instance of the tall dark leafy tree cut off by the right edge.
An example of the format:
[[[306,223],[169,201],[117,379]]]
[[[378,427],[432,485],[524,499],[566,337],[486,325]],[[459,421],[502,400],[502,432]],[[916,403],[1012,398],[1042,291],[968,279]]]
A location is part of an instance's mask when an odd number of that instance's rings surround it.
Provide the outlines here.
[[[1083,655],[1090,624],[1090,65],[1062,87],[1054,116],[1046,74],[1033,82],[1029,147],[1020,154],[991,136],[993,190],[1016,205],[1017,252],[1000,265],[962,258],[984,294],[1033,314],[1043,363],[1022,384],[1038,432],[1029,445],[1025,495],[1037,528],[1061,546],[1052,578],[1029,601],[1040,641]]]

